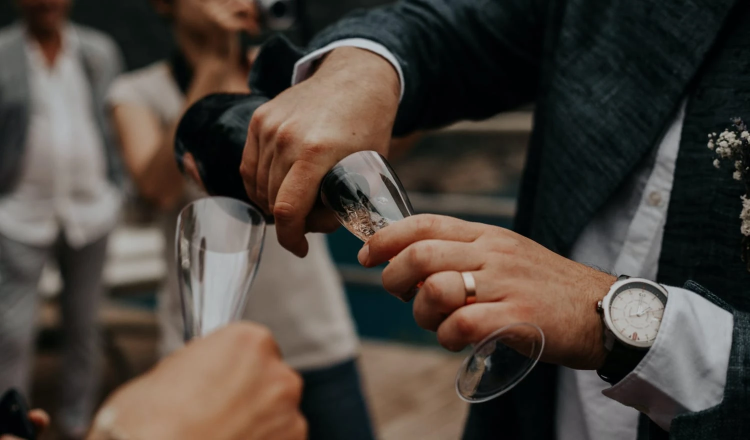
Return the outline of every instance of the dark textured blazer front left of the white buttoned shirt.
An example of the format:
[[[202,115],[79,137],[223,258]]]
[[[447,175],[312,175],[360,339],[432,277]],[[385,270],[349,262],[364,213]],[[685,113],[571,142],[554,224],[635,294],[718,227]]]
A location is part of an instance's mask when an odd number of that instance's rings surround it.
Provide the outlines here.
[[[570,250],[658,145],[737,1],[584,0],[565,8],[537,115],[532,238]]]

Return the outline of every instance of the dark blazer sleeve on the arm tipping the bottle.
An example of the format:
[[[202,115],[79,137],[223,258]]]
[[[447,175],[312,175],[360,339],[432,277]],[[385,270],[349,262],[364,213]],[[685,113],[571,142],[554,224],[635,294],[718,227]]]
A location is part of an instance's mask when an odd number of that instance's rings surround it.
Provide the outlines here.
[[[308,49],[347,38],[389,49],[404,72],[398,136],[529,103],[552,1],[404,0],[342,19]]]

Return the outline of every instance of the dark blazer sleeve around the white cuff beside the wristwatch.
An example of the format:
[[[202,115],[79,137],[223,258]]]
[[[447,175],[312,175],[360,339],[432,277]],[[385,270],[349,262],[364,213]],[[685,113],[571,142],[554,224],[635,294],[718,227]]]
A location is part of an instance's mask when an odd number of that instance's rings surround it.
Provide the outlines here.
[[[717,406],[701,412],[678,415],[672,421],[670,438],[746,439],[750,433],[750,313],[736,310],[703,286],[688,282],[692,290],[733,315],[732,349],[727,368],[724,399]],[[656,437],[656,436],[653,436]]]

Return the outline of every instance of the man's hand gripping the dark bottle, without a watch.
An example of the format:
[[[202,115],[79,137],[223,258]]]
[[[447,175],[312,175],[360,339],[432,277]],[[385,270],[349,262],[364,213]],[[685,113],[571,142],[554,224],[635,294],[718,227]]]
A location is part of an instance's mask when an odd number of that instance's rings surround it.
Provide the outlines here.
[[[338,226],[322,208],[310,215],[320,181],[356,151],[387,153],[400,90],[389,61],[344,47],[310,79],[256,110],[240,172],[248,196],[274,215],[282,246],[305,256],[305,232]]]

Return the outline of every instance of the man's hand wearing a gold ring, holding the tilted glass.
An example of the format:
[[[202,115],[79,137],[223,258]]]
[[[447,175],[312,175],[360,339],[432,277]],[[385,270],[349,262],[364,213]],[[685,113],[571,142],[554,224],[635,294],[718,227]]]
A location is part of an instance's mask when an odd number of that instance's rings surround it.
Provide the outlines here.
[[[389,260],[383,286],[408,299],[424,280],[414,317],[422,328],[437,331],[447,349],[460,350],[505,325],[529,322],[544,331],[543,361],[581,370],[595,370],[604,361],[596,304],[616,280],[609,274],[508,229],[437,215],[393,223],[359,253],[368,267]],[[466,305],[463,271],[475,278],[475,304]],[[529,335],[513,336],[521,349]]]

